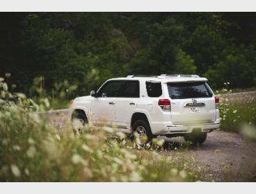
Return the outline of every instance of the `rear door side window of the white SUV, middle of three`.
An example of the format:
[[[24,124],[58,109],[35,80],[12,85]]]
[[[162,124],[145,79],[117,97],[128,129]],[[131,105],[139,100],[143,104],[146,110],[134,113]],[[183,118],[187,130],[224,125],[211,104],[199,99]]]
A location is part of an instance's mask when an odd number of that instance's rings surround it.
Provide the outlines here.
[[[122,97],[138,98],[140,97],[140,88],[138,81],[126,81],[122,90]]]

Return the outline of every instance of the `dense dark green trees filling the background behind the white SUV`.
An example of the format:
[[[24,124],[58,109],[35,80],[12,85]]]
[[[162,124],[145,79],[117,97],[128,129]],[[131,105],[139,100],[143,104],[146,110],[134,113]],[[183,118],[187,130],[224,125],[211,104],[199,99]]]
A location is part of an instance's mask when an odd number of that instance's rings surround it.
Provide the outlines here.
[[[45,94],[67,80],[79,88],[74,96],[128,74],[195,73],[215,89],[227,81],[253,87],[255,37],[243,36],[250,20],[236,18],[211,12],[7,15],[0,29],[0,71],[12,73],[16,89],[29,95],[38,77],[45,80]]]

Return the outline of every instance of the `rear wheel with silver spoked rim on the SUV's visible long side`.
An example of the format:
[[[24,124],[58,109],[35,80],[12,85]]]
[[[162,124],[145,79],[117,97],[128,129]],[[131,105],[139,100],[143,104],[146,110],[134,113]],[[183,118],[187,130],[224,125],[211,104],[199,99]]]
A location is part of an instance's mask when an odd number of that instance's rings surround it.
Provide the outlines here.
[[[145,143],[149,143],[153,139],[153,134],[150,129],[150,124],[145,120],[137,120],[134,122],[134,125],[132,127],[133,132],[137,132],[139,136],[139,144],[142,143],[142,139],[144,136],[147,137],[147,141]]]

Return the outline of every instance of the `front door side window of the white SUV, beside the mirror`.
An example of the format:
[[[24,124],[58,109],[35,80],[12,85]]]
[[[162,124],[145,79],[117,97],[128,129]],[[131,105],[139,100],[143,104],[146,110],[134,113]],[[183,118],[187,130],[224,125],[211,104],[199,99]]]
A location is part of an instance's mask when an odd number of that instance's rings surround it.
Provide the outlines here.
[[[116,97],[120,94],[122,81],[109,81],[99,90],[98,97]]]

